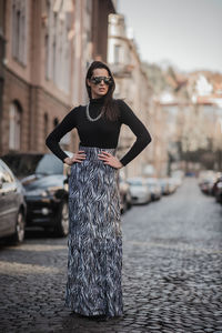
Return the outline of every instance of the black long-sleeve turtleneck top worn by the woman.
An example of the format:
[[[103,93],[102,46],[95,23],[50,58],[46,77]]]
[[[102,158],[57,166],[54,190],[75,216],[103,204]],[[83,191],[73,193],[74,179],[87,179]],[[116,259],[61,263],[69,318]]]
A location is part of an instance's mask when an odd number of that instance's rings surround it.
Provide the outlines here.
[[[103,102],[104,98],[90,100],[89,111],[91,118],[97,118],[101,112]],[[47,147],[63,161],[68,155],[60,148],[59,142],[65,133],[77,128],[81,145],[102,149],[117,148],[121,124],[124,123],[137,137],[131,149],[120,160],[123,165],[127,165],[151,142],[151,137],[144,124],[138,119],[129,105],[122,100],[118,100],[117,102],[120,110],[120,117],[117,121],[109,121],[104,117],[101,117],[97,121],[89,121],[85,107],[79,105],[72,109],[47,137]]]

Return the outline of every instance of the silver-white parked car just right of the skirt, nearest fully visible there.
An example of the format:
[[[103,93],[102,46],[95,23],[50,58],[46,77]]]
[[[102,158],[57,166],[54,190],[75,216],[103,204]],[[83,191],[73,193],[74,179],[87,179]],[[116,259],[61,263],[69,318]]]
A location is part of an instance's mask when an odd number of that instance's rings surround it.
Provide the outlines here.
[[[151,192],[143,178],[130,178],[128,183],[130,184],[132,204],[149,203],[151,201]]]

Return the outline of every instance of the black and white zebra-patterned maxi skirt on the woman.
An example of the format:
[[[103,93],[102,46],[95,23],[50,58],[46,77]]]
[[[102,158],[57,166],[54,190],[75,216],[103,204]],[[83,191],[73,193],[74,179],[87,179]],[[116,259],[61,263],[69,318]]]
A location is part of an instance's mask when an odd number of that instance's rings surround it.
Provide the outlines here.
[[[122,230],[117,169],[98,159],[114,149],[81,147],[87,158],[69,179],[65,303],[82,315],[123,314]]]

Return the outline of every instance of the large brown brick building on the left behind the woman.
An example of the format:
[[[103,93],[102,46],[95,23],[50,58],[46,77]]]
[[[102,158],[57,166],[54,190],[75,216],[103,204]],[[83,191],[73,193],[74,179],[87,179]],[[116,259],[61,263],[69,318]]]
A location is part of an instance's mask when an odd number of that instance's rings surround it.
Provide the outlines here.
[[[0,154],[47,151],[47,134],[73,105],[85,102],[87,67],[93,58],[107,61],[105,20],[113,3],[0,1],[0,42],[6,46],[0,54]],[[77,142],[73,131],[61,143],[73,150]]]

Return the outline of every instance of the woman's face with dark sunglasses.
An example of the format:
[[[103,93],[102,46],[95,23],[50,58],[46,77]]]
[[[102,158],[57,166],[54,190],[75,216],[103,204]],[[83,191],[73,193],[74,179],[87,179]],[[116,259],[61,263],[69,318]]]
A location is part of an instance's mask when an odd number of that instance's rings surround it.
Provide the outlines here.
[[[93,70],[91,80],[88,80],[88,85],[91,87],[92,99],[98,99],[103,97],[104,94],[108,93],[109,90],[109,84],[105,84],[103,80],[98,84],[95,84],[95,82],[92,81],[92,79],[97,77],[109,78],[110,75],[104,68],[97,68]]]

